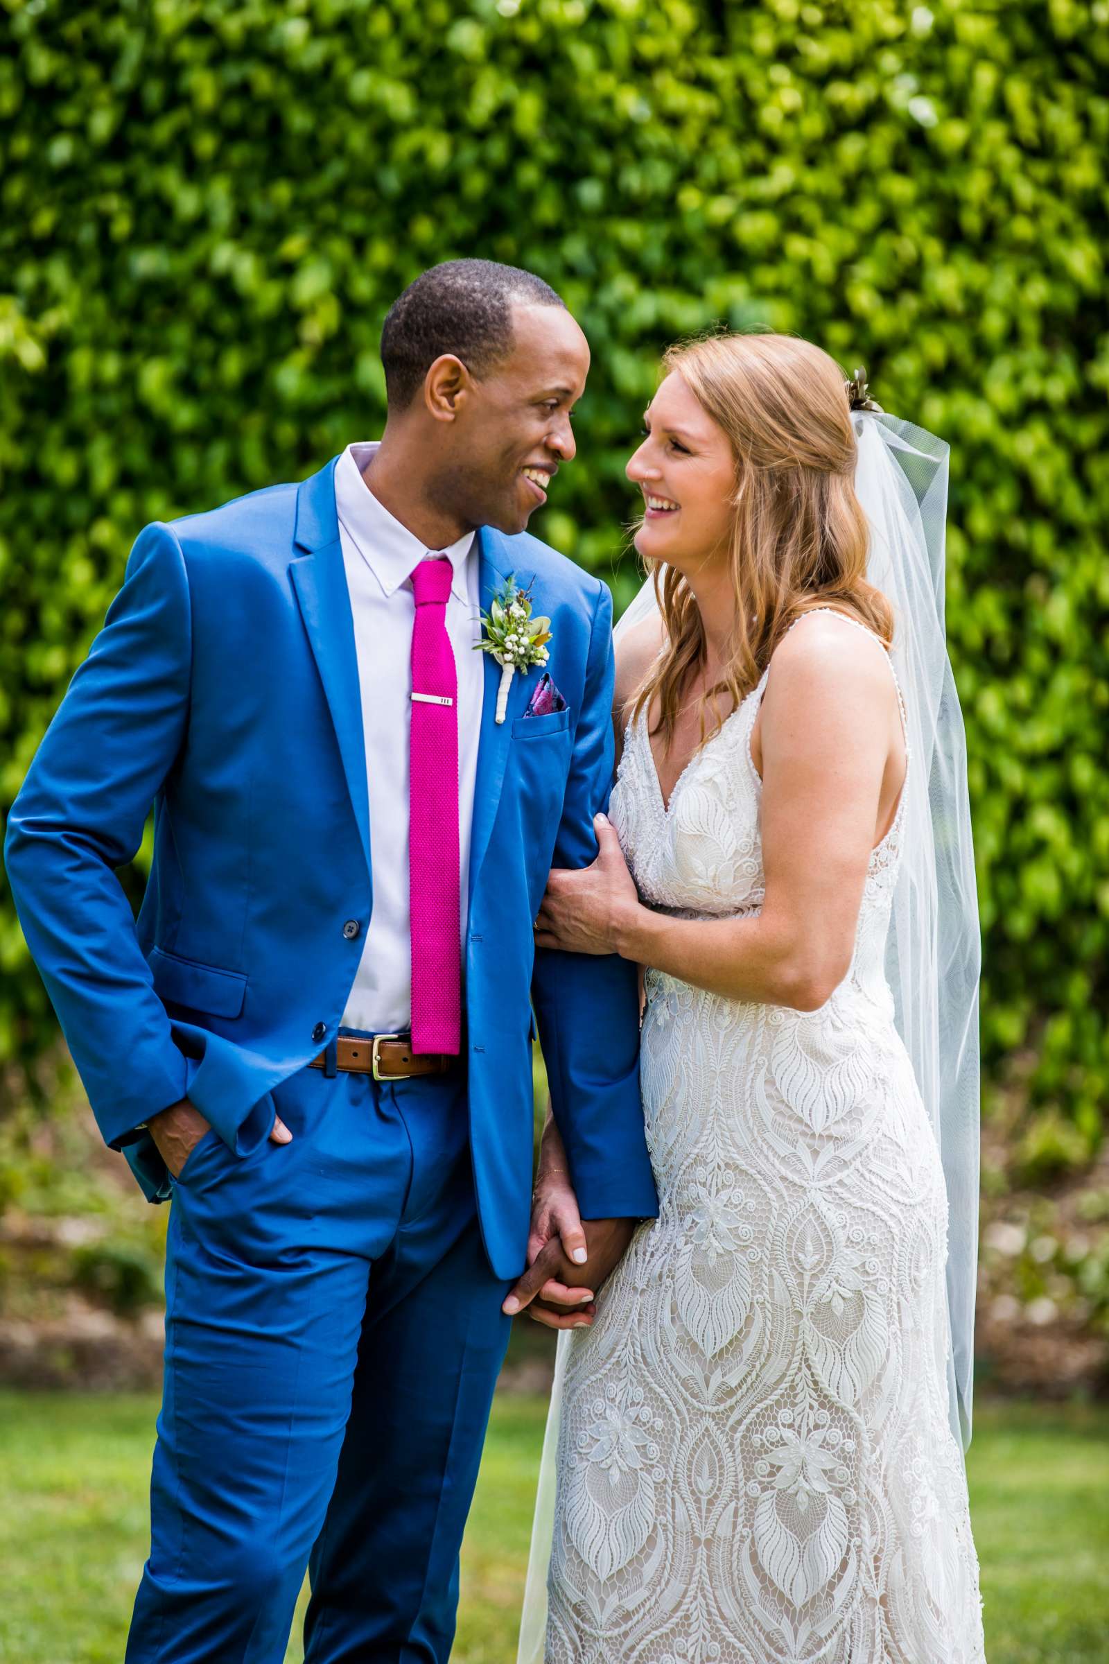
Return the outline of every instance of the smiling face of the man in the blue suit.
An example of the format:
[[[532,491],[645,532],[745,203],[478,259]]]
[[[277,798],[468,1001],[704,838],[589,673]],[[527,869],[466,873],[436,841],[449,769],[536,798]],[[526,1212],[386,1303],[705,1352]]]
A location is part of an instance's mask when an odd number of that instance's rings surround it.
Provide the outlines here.
[[[472,378],[442,434],[436,484],[471,526],[520,532],[574,459],[570,413],[589,374],[589,343],[562,306],[515,306],[512,344]]]

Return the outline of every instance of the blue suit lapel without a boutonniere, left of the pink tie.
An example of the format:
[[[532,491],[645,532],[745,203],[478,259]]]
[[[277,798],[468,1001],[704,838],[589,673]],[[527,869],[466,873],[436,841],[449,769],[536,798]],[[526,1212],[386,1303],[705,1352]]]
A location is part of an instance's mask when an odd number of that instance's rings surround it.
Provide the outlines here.
[[[328,463],[298,489],[293,541],[306,554],[289,562],[289,576],[339,742],[366,869],[372,872],[362,697],[354,649],[354,616],[334,506],[334,461]]]

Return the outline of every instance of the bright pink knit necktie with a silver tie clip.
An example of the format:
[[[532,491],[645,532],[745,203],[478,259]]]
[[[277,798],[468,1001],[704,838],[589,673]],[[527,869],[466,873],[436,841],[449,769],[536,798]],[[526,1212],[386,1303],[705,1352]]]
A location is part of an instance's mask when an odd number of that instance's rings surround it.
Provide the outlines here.
[[[457,671],[447,636],[451,562],[412,571],[409,909],[412,1052],[457,1055],[462,1015]]]

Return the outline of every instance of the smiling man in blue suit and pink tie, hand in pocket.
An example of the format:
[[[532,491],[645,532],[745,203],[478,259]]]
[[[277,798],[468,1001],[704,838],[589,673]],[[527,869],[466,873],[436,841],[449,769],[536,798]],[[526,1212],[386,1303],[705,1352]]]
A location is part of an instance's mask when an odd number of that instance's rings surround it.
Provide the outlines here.
[[[446,1661],[524,1265],[529,993],[590,1283],[655,1213],[637,990],[534,950],[595,852],[610,599],[527,536],[589,348],[539,278],[436,266],[389,413],[299,486],[138,537],[7,867],[100,1130],[173,1198],[128,1664]],[[550,681],[476,652],[509,574]],[[115,869],[155,804],[133,920]]]

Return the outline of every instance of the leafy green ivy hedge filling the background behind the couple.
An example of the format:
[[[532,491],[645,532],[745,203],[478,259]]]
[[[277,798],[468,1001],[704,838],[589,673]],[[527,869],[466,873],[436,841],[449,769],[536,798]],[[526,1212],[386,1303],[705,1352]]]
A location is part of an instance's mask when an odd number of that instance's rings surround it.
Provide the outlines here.
[[[540,536],[635,584],[660,349],[798,331],[953,446],[989,1067],[1109,1082],[1109,0],[0,0],[0,799],[155,516],[379,431],[381,319],[484,255],[594,346]],[[52,1017],[0,910],[0,1057]]]

